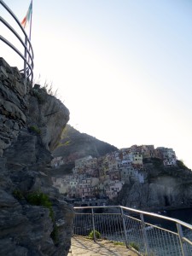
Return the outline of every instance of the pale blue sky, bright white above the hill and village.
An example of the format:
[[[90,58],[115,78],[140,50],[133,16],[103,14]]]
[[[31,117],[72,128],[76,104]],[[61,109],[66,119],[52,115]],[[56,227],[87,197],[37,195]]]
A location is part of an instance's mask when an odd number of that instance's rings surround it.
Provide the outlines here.
[[[4,2],[19,20],[30,4]],[[35,80],[53,84],[75,129],[173,148],[192,169],[191,0],[33,0],[32,47]],[[0,55],[21,65],[2,42]]]

